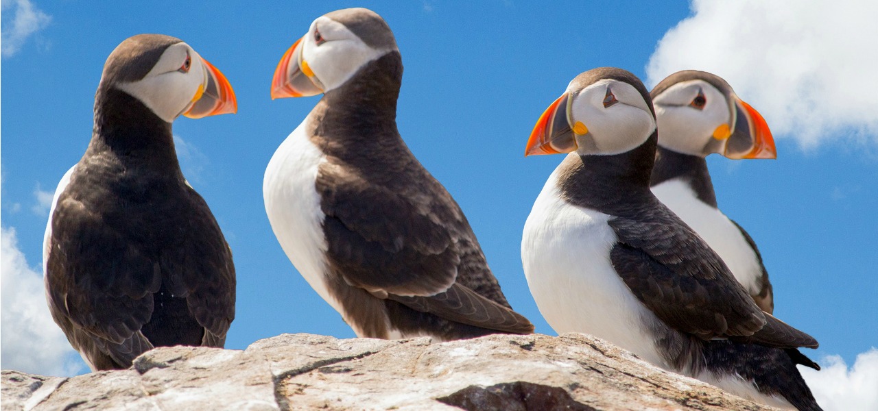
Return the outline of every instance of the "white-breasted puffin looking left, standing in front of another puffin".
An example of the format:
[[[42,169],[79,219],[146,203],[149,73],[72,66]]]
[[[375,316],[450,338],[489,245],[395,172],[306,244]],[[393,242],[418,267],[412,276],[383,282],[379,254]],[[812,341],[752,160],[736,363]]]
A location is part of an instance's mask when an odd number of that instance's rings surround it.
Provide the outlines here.
[[[579,74],[525,155],[568,153],[522,236],[537,307],[667,370],[779,407],[819,409],[796,364],[817,341],[756,305],[723,260],[650,190],[659,131],[634,74]]]

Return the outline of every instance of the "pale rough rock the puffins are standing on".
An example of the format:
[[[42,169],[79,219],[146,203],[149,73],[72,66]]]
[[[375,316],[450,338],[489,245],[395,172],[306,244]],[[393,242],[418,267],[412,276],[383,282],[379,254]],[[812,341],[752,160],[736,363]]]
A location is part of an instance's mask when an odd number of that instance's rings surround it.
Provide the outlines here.
[[[3,410],[774,409],[583,334],[442,344],[284,334],[245,351],[159,348],[128,370],[2,381]]]

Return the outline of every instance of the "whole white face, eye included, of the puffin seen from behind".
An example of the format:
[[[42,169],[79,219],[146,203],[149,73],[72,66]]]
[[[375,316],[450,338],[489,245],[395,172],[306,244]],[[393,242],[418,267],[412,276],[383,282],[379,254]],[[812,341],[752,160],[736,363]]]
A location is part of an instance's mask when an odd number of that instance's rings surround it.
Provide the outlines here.
[[[206,79],[207,68],[201,57],[192,47],[180,42],[169,46],[140,81],[122,83],[117,87],[171,123],[191,107],[198,86],[204,86]]]

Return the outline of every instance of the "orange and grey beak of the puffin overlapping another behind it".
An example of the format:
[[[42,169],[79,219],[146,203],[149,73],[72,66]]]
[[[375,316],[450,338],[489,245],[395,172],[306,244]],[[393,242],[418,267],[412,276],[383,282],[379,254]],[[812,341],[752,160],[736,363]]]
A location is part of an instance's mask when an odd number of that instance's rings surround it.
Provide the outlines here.
[[[575,127],[570,125],[570,102],[570,95],[565,93],[543,111],[543,115],[536,121],[534,131],[530,132],[528,146],[524,148],[525,157],[576,150],[576,134],[587,134],[588,129],[579,122]]]

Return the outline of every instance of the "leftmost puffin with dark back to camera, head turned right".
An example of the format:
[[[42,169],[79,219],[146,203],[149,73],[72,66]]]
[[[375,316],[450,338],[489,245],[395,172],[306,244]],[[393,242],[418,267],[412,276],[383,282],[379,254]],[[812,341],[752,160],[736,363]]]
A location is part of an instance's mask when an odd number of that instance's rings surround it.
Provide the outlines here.
[[[136,35],[107,58],[89,146],[55,190],[43,242],[49,311],[92,371],[225,344],[232,252],[184,179],[171,124],[236,110],[226,77],[180,39]]]

